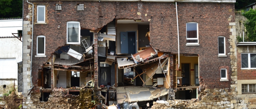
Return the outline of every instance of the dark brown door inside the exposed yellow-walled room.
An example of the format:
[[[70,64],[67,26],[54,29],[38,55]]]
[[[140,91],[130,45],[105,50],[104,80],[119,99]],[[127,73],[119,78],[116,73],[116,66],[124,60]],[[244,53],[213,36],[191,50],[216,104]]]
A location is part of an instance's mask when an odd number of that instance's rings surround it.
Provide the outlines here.
[[[182,85],[190,85],[190,66],[189,64],[181,64]]]

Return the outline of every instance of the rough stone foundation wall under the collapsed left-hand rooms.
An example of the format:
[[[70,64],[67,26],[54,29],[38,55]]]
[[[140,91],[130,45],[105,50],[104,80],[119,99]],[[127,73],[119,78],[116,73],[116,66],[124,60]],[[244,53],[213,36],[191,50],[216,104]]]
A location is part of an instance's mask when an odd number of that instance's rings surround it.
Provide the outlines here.
[[[93,94],[93,89],[81,89],[81,95],[69,94],[69,89],[54,88],[49,95],[48,101],[40,101],[41,93],[31,93],[30,101],[23,103],[24,109],[89,109],[98,103],[98,91]]]

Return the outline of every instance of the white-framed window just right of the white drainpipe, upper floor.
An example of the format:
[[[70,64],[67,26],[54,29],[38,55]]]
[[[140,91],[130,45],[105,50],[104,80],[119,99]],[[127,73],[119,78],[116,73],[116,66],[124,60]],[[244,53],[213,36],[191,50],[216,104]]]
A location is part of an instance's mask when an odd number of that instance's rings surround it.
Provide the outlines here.
[[[187,44],[198,44],[198,23],[188,22],[186,27],[187,27]]]

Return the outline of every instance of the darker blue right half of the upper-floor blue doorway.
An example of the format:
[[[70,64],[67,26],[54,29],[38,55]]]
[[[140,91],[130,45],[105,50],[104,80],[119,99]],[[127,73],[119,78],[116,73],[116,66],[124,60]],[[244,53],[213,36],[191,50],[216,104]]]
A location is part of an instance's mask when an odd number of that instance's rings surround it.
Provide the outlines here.
[[[128,32],[128,54],[135,54],[135,32]]]

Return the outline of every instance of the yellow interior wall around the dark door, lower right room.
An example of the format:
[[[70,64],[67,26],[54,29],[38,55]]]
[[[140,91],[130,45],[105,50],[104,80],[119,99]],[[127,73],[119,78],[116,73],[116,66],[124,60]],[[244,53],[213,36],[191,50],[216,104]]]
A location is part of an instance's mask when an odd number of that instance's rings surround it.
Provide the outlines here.
[[[178,61],[177,61],[178,62]],[[195,84],[195,64],[198,64],[197,56],[180,56],[180,67],[179,71],[177,71],[177,77],[181,77],[181,63],[190,63],[190,85]]]

